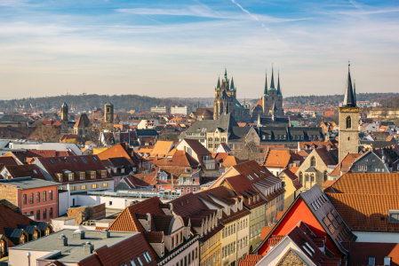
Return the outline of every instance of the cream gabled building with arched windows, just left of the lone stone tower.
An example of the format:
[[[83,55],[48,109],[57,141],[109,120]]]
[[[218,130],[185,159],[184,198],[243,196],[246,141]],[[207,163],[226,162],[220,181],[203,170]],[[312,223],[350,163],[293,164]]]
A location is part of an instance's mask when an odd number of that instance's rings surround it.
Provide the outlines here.
[[[322,184],[328,180],[329,167],[337,165],[337,151],[328,150],[325,146],[319,145],[312,150],[307,159],[299,166],[296,176],[299,176],[299,183],[305,190],[317,184]]]

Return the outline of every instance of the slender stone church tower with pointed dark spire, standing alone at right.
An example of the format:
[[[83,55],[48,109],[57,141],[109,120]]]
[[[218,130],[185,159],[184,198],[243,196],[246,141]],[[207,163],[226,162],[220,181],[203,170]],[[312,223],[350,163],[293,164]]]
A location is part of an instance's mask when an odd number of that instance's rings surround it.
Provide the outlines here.
[[[339,107],[339,161],[344,159],[347,153],[359,153],[359,110],[348,65],[347,89],[342,107]]]

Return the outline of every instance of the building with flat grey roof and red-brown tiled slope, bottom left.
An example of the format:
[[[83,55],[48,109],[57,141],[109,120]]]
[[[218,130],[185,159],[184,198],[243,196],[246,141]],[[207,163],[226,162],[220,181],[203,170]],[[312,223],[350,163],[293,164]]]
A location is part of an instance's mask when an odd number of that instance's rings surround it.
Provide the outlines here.
[[[9,253],[12,265],[26,265],[30,261],[33,265],[56,266],[156,266],[158,259],[143,234],[129,231],[64,229],[14,246]]]

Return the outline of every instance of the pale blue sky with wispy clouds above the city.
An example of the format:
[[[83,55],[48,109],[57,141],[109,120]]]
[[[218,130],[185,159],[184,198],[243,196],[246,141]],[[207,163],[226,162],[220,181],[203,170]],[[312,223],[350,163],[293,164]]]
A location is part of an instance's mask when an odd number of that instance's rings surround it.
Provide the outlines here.
[[[398,1],[0,0],[0,98],[399,92]],[[276,76],[275,76],[276,79]]]

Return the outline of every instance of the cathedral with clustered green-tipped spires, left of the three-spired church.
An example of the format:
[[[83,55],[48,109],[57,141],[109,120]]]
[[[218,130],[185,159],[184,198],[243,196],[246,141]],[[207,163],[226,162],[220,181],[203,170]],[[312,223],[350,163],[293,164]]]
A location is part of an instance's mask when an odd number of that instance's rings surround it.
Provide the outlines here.
[[[251,120],[250,109],[246,108],[245,101],[243,106],[236,98],[236,89],[233,81],[233,76],[230,80],[227,79],[227,69],[225,68],[225,75],[215,88],[215,101],[213,106],[213,119],[217,120],[221,113],[231,113],[235,121],[249,121]]]

